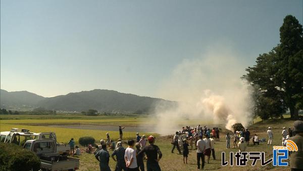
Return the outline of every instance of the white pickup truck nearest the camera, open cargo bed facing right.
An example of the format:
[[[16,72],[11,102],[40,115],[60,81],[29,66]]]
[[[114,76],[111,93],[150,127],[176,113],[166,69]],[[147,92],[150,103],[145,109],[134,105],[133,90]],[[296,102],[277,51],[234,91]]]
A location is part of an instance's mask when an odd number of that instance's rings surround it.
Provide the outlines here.
[[[23,148],[28,149],[40,158],[42,170],[76,170],[79,159],[61,156],[57,153],[56,142],[52,139],[28,140]]]

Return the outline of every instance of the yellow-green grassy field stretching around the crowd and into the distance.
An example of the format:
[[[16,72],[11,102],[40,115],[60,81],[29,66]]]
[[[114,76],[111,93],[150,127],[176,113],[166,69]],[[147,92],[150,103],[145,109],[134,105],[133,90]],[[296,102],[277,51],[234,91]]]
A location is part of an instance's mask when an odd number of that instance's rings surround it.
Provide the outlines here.
[[[10,118],[11,117],[11,118]],[[16,116],[14,116],[16,117]],[[33,119],[28,119],[28,117]],[[26,118],[26,119],[23,119]],[[43,119],[41,119],[43,118]],[[61,119],[59,119],[61,118]],[[76,145],[78,145],[77,141],[80,137],[83,136],[91,136],[94,137],[97,141],[100,139],[106,139],[106,132],[107,131],[99,131],[99,130],[81,130],[81,129],[67,129],[67,128],[59,128],[59,127],[48,127],[43,126],[43,124],[72,124],[72,123],[89,123],[89,124],[110,124],[110,125],[133,125],[133,124],[154,124],[156,119],[155,118],[148,118],[148,117],[124,117],[124,118],[115,118],[115,117],[93,117],[93,119],[83,119],[83,118],[74,118],[74,119],[67,119],[63,116],[19,116],[18,119],[12,119],[12,116],[2,116],[0,120],[0,130],[1,131],[9,131],[12,127],[19,127],[19,128],[26,128],[31,130],[31,132],[55,132],[57,134],[57,138],[59,142],[68,142],[70,138],[74,138],[76,140]],[[187,120],[186,124],[189,125],[196,125],[199,120]],[[202,121],[200,121],[203,123]],[[36,125],[36,123],[42,125]],[[180,121],[182,123],[182,121]],[[259,138],[266,138],[266,131],[267,127],[273,127],[272,131],[274,133],[274,141],[273,145],[280,145],[281,144],[281,132],[282,127],[292,127],[293,121],[287,119],[287,115],[284,116],[284,119],[273,119],[267,121],[260,121],[255,120],[255,124],[249,126],[251,135],[258,134]],[[185,123],[184,123],[185,124]],[[108,131],[111,135],[111,138],[114,140],[118,139],[118,129],[117,131]],[[273,169],[273,170],[288,170],[289,166],[286,167],[274,167],[271,164],[262,167],[260,165],[261,161],[257,162],[256,166],[221,166],[221,152],[225,151],[226,153],[230,151],[238,151],[237,149],[226,149],[226,143],[224,135],[228,132],[227,130],[222,130],[220,133],[221,141],[216,142],[215,150],[216,150],[216,157],[217,160],[210,160],[210,163],[205,165],[205,169],[211,170],[260,170],[260,169]],[[136,131],[133,132],[124,132],[124,139],[134,139]],[[149,135],[150,133],[140,133]],[[172,133],[173,134],[173,133]],[[155,134],[154,134],[155,135]],[[175,153],[171,153],[172,145],[170,144],[172,137],[171,136],[163,136],[159,137],[155,135],[156,145],[158,145],[163,153],[163,158],[160,161],[160,166],[162,170],[196,170],[196,152],[195,150],[190,150],[188,164],[183,164],[183,156],[177,154],[177,150]],[[224,141],[223,141],[224,140]],[[232,142],[231,142],[232,146]],[[126,147],[126,145],[124,145]],[[269,159],[272,157],[272,146],[268,146],[267,143],[261,143],[260,145],[250,145],[247,147],[247,151],[265,151],[266,158]],[[112,151],[110,151],[110,154]],[[226,157],[228,159],[229,157]],[[145,163],[146,164],[146,163]],[[251,164],[251,161],[248,161],[248,164]],[[110,159],[110,166],[111,169],[114,170],[115,162]],[[80,156],[80,170],[98,170],[98,162],[95,160],[92,154],[83,154]]]

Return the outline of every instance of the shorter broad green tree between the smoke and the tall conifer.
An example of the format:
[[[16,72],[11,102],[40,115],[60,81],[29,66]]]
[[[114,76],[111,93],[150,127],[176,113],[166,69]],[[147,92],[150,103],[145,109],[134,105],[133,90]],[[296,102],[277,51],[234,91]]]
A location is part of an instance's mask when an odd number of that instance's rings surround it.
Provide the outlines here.
[[[254,100],[254,115],[262,119],[269,119],[281,116],[286,106],[283,101],[283,93],[277,88],[273,80],[275,74],[275,60],[277,48],[268,54],[262,54],[257,58],[256,65],[248,67],[248,72],[243,76],[252,85]]]

